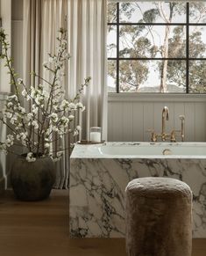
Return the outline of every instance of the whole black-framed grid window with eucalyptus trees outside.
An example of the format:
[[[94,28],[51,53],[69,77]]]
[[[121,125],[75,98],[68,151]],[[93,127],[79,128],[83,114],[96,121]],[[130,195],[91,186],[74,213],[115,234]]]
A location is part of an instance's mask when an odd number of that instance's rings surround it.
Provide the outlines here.
[[[206,3],[108,4],[109,92],[206,92]]]

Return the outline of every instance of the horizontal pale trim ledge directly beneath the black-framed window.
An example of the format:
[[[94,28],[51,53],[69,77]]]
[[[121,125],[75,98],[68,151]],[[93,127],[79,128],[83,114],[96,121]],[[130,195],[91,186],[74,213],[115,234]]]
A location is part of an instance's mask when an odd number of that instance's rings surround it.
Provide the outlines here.
[[[206,102],[206,94],[108,93],[108,102]]]

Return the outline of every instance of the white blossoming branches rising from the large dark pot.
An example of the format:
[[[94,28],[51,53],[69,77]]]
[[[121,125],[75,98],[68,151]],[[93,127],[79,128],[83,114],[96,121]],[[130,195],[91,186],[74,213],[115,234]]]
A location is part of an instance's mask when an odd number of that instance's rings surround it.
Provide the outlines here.
[[[50,151],[53,139],[63,138],[68,133],[78,135],[81,130],[80,126],[75,129],[68,128],[68,124],[75,120],[74,112],[76,110],[83,111],[85,106],[82,105],[82,102],[76,103],[75,100],[71,102],[68,95],[66,99],[66,92],[62,86],[66,70],[64,62],[71,56],[67,53],[67,40],[63,34],[61,34],[58,44],[56,53],[49,54],[47,62],[43,63],[46,77],[40,78],[43,81],[42,84],[32,86],[24,84],[22,78],[14,79],[12,83],[18,86],[18,91],[8,97],[4,106],[2,121],[7,121],[9,128],[11,125],[11,135],[7,135],[3,143],[0,142],[0,148],[6,151],[14,141],[18,141],[18,144],[27,149],[26,160],[28,162],[36,160],[35,153],[39,152],[42,144],[44,145],[43,156],[51,154],[54,161],[59,160],[63,150]],[[9,68],[10,65],[11,63],[8,62]],[[15,74],[12,67],[9,73],[11,76]],[[36,79],[39,77],[38,74],[32,72],[31,75],[32,80],[38,80]],[[31,85],[30,89],[28,85]],[[86,79],[85,85],[87,85]],[[23,97],[24,100],[29,101],[25,107],[22,104]]]

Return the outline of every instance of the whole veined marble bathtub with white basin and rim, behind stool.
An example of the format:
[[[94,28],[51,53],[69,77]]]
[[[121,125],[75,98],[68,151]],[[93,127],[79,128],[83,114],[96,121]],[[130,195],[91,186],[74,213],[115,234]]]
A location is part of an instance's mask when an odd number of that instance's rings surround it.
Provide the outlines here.
[[[70,164],[71,237],[123,238],[126,185],[160,176],[191,187],[193,237],[206,238],[206,143],[76,144]]]

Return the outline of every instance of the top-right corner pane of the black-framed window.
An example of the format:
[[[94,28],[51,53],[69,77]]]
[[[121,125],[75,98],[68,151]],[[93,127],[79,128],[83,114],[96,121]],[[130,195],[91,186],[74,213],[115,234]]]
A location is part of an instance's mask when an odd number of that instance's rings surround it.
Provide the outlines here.
[[[206,3],[202,3],[202,2],[189,3],[189,22],[190,23],[206,22]]]

